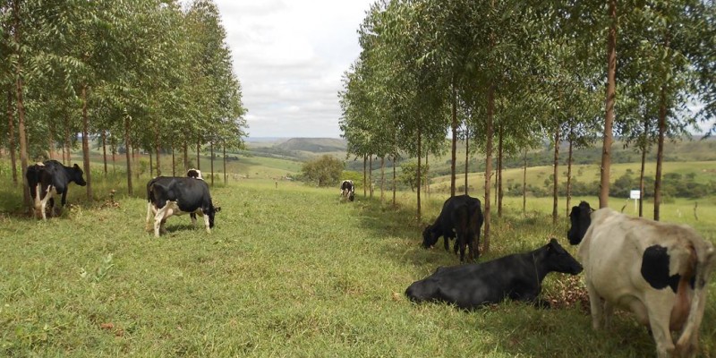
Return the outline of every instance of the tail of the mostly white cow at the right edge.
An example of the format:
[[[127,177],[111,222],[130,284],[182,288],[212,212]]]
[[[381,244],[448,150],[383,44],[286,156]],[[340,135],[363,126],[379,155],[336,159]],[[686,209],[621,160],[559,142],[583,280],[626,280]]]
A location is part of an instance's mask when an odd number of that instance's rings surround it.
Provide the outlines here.
[[[695,264],[695,279],[694,279],[694,296],[691,298],[691,304],[688,311],[688,317],[686,318],[686,324],[684,329],[681,331],[681,336],[678,337],[677,349],[695,349],[695,338],[698,337],[698,328],[701,326],[701,320],[703,319],[703,310],[706,304],[706,286],[709,284],[709,276],[713,264],[716,263],[716,251],[714,251],[712,243],[706,243],[703,240],[695,242],[694,244],[696,264]],[[696,335],[696,336],[695,336]],[[694,345],[692,345],[692,342]],[[688,352],[682,352],[688,355]]]

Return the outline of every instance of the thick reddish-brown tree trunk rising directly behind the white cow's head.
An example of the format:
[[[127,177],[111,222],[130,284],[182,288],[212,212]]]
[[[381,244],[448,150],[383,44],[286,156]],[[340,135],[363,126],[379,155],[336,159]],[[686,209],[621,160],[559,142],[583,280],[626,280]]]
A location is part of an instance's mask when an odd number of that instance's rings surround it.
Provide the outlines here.
[[[601,147],[601,181],[599,207],[609,206],[609,170],[611,144],[614,141],[614,104],[617,99],[617,0],[609,0],[609,35],[607,39],[607,99],[604,118],[604,141]]]

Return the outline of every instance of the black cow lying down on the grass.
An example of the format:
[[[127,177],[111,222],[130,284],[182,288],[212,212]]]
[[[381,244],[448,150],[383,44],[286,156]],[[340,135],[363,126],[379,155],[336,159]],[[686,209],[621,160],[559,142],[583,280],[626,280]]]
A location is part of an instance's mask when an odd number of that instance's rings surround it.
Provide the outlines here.
[[[541,283],[550,272],[576,275],[582,265],[556,239],[537,250],[516,253],[482,263],[438,268],[414,282],[405,295],[415,303],[453,303],[465,310],[505,299],[525,301],[549,308],[539,297]]]

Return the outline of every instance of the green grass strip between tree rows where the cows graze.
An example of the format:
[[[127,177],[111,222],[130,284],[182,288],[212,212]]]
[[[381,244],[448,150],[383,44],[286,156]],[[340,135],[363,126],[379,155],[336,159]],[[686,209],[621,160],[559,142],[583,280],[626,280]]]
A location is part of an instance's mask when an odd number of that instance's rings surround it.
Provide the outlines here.
[[[212,194],[212,234],[171,217],[144,231],[146,201],[75,207],[40,222],[0,218],[0,356],[634,357],[655,352],[646,328],[618,314],[594,332],[584,303],[478,311],[416,305],[404,291],[458,260],[423,250],[414,206],[398,209],[337,189],[245,181]],[[71,195],[79,195],[79,191]],[[72,197],[71,197],[72,201]],[[424,221],[441,200],[426,201]],[[437,207],[437,209],[436,209]],[[507,212],[494,218],[490,260],[533,250],[567,223]],[[575,254],[574,247],[567,250]],[[702,356],[716,355],[716,285]],[[584,290],[553,274],[550,300]]]

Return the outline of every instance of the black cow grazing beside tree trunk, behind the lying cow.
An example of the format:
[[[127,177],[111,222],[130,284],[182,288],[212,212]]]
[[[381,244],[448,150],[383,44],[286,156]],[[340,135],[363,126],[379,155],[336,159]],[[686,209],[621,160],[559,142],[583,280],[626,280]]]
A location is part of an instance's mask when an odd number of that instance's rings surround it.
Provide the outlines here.
[[[432,247],[443,236],[445,250],[449,250],[449,239],[456,237],[455,252],[459,248],[460,262],[465,261],[465,248],[469,249],[468,260],[476,260],[480,256],[480,228],[484,221],[481,205],[479,199],[469,195],[445,200],[435,223],[422,231],[422,247]]]

